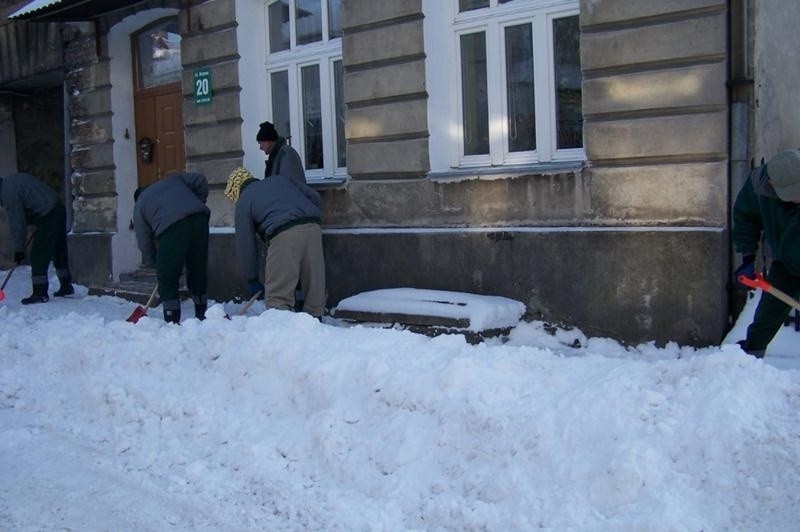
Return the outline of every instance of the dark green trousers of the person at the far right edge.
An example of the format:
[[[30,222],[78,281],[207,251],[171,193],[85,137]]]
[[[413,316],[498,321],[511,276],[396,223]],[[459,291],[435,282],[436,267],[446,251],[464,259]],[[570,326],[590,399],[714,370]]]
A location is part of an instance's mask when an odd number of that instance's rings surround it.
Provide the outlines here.
[[[797,299],[800,296],[800,276],[792,275],[782,262],[773,262],[767,272],[767,281]],[[747,349],[762,350],[772,341],[783,326],[792,307],[767,292],[761,294],[753,323],[747,328]]]

